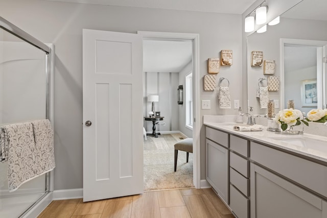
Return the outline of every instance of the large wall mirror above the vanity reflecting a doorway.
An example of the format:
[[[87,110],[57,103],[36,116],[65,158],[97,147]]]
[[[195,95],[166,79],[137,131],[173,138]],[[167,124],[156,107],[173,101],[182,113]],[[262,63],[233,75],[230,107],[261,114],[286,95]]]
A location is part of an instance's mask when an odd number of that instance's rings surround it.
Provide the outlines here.
[[[282,14],[278,25],[247,37],[248,107],[253,107],[253,114],[267,114],[258,89],[266,87],[271,77],[280,81],[278,90],[269,91],[277,112],[287,108],[288,100],[306,113],[326,106],[326,8],[325,0],[303,0]],[[264,65],[251,66],[252,51],[263,52],[263,60],[275,61],[274,74],[264,74]]]

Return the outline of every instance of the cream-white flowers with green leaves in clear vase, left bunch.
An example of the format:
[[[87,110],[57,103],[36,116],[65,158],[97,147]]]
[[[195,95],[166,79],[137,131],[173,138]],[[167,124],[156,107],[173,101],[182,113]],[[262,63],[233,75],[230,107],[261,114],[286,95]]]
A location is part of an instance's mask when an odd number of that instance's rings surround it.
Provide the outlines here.
[[[294,126],[301,125],[301,122],[309,126],[307,120],[303,119],[302,112],[293,108],[279,111],[274,120],[276,123],[281,124],[281,129],[283,131],[293,129]]]

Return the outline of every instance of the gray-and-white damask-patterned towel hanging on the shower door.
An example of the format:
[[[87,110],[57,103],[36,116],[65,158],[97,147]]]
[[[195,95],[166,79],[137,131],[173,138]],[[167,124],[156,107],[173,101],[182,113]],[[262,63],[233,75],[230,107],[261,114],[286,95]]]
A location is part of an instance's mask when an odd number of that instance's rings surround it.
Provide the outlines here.
[[[48,119],[6,125],[0,130],[0,154],[3,162],[8,161],[10,192],[54,169],[53,130]]]

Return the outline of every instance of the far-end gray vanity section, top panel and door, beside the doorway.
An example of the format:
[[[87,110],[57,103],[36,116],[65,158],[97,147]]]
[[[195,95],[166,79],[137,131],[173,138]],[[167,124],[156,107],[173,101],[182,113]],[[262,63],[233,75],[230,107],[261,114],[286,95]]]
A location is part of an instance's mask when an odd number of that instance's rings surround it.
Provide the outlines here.
[[[228,204],[228,134],[206,128],[206,180]]]

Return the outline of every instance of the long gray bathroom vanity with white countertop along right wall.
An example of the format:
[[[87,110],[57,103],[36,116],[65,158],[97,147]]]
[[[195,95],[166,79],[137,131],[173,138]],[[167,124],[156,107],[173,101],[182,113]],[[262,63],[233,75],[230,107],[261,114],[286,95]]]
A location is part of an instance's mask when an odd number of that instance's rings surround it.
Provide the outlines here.
[[[327,137],[208,120],[206,180],[237,217],[327,217]]]

